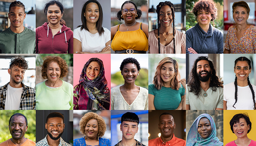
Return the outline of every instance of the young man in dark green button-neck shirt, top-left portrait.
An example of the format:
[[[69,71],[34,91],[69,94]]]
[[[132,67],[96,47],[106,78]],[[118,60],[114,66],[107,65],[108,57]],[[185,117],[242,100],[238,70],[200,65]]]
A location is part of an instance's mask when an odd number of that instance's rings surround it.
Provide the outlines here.
[[[8,18],[11,26],[0,32],[0,53],[35,53],[35,32],[23,26],[26,13],[25,6],[20,1],[10,4]]]

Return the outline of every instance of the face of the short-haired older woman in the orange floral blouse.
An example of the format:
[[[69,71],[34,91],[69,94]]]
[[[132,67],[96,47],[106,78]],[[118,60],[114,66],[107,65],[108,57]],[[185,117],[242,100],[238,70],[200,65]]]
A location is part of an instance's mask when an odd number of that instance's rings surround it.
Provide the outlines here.
[[[249,18],[249,14],[247,13],[246,8],[237,6],[233,11],[233,19],[236,22],[236,24],[246,24],[247,19]]]

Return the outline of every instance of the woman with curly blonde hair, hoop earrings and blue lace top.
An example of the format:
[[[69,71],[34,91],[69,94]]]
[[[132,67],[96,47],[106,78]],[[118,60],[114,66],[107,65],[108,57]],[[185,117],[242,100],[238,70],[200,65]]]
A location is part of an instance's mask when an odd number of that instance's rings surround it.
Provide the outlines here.
[[[79,123],[82,138],[74,139],[74,146],[110,146],[110,140],[102,138],[107,129],[105,120],[94,112],[84,114]]]

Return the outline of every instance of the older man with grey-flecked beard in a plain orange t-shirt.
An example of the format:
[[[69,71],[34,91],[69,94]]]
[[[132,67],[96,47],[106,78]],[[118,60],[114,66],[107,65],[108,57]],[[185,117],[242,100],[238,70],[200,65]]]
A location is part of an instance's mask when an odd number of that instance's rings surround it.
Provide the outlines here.
[[[26,116],[20,113],[12,115],[9,120],[9,130],[12,138],[0,143],[0,146],[35,146],[35,142],[24,137],[27,127]]]

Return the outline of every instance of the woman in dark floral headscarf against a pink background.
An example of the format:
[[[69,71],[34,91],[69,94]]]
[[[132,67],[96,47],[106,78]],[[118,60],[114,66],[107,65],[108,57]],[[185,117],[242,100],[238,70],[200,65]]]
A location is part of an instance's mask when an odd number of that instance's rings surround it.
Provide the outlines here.
[[[74,87],[74,110],[109,110],[107,85],[102,60],[89,59],[83,67],[79,84]]]

